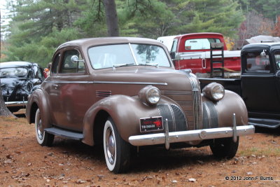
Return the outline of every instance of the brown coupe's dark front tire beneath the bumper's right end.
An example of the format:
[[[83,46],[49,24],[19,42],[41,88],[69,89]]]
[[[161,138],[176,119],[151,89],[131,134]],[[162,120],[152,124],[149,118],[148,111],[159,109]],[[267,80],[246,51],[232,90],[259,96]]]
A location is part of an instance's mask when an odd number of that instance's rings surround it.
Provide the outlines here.
[[[211,151],[216,158],[234,158],[239,144],[239,137],[237,142],[233,141],[232,137],[214,139],[210,145]]]

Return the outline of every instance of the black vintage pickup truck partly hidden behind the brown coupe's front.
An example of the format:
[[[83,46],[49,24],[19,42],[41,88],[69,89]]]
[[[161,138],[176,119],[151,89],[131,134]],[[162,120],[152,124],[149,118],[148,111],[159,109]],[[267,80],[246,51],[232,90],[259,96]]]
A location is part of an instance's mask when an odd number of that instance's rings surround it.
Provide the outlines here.
[[[280,127],[280,43],[253,43],[241,50],[241,78],[200,78],[237,92],[248,109],[249,124]]]

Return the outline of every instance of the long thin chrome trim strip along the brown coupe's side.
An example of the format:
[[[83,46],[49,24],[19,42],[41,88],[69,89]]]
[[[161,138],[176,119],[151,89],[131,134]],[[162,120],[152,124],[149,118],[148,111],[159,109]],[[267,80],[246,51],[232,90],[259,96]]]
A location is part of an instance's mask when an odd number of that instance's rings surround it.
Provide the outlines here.
[[[123,81],[45,81],[45,83],[74,83],[74,84],[137,84],[137,85],[168,85],[167,83],[153,82],[123,82]]]

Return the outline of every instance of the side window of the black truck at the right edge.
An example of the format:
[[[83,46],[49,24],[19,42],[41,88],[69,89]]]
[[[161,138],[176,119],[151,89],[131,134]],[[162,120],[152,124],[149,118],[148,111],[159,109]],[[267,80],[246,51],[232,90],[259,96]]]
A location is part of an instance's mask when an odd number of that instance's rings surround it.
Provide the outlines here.
[[[254,51],[245,55],[246,73],[269,73],[269,55],[260,55],[262,51]]]

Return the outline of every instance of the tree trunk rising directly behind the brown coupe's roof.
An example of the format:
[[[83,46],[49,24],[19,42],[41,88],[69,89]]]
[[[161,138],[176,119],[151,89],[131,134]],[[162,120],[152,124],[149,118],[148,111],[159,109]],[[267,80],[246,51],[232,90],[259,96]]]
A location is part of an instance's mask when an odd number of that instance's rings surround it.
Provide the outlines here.
[[[119,36],[118,15],[115,0],[104,0],[108,36]]]

